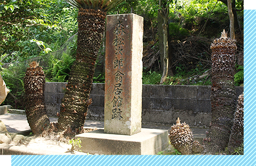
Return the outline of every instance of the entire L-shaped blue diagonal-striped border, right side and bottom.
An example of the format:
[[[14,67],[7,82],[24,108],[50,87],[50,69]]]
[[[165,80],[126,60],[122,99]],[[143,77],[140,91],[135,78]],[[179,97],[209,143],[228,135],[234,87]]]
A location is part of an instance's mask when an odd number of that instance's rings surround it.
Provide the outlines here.
[[[12,155],[18,165],[256,165],[256,11],[244,10],[244,155]]]

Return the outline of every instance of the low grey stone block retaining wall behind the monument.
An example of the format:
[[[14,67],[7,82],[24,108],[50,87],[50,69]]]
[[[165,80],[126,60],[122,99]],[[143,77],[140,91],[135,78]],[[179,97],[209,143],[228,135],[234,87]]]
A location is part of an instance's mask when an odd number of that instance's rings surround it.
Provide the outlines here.
[[[56,116],[67,83],[47,82],[45,102],[49,116]],[[211,121],[211,86],[143,85],[142,122],[175,124],[177,117],[191,126]],[[87,119],[104,120],[104,84],[93,83]],[[244,87],[237,86],[237,97]]]

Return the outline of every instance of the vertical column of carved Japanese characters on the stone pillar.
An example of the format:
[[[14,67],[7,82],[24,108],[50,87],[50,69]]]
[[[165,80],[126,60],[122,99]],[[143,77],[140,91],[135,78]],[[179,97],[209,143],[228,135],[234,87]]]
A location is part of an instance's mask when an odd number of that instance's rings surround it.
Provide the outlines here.
[[[113,31],[114,39],[112,45],[114,47],[114,60],[113,60],[113,70],[114,70],[114,86],[113,86],[113,100],[112,105],[112,119],[121,120],[122,115],[122,101],[123,101],[123,80],[125,78],[125,73],[123,72],[123,67],[125,64],[125,58],[123,58],[123,50],[125,46],[125,38],[128,38],[129,26],[125,26],[124,22],[117,20],[115,23],[115,28]]]

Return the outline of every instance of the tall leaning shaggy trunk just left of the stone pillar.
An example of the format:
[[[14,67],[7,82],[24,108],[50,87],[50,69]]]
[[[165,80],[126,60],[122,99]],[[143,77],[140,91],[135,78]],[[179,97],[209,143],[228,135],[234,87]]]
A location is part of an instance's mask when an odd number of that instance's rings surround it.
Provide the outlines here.
[[[106,13],[100,10],[78,11],[76,61],[71,68],[57,127],[61,130],[83,128],[87,108],[91,104],[90,91],[94,67],[105,29]]]

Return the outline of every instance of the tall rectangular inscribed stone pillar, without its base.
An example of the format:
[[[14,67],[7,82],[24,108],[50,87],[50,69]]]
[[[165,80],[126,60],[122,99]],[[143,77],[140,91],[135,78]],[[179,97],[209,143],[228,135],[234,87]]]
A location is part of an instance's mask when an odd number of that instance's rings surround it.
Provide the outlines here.
[[[141,131],[143,18],[107,15],[104,132]]]

